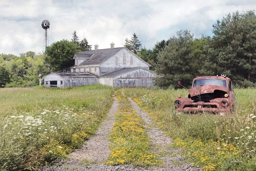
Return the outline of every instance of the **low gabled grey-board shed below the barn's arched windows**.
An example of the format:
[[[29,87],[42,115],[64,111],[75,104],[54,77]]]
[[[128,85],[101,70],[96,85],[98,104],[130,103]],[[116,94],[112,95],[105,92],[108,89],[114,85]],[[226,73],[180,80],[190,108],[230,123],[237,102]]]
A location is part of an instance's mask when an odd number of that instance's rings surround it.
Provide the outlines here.
[[[123,68],[99,76],[99,84],[112,87],[154,87],[156,73],[145,68]]]

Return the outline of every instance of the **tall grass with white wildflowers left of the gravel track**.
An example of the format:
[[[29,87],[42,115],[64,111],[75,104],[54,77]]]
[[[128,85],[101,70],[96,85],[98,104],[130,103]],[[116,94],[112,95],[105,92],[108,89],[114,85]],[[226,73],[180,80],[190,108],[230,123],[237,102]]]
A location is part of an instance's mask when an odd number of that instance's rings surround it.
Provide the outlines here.
[[[94,134],[108,112],[113,89],[0,89],[0,170],[36,170],[65,158]]]

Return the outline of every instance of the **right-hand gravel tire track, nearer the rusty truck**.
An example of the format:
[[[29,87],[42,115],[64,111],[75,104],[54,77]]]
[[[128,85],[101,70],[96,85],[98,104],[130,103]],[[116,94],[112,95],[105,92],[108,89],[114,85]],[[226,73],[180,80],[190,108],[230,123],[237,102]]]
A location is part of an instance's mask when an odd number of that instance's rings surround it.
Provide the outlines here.
[[[193,167],[191,164],[182,164],[182,165],[174,165],[173,162],[181,162],[185,161],[181,155],[173,156],[173,153],[176,153],[178,151],[181,151],[181,149],[174,149],[169,147],[172,144],[172,140],[165,135],[165,133],[160,129],[154,127],[155,121],[151,119],[151,116],[147,114],[146,112],[142,111],[138,104],[134,102],[131,98],[129,98],[129,101],[131,102],[132,107],[137,111],[138,115],[142,117],[142,119],[145,120],[146,125],[146,132],[148,136],[150,137],[151,141],[154,146],[152,146],[152,152],[154,153],[163,153],[164,157],[161,157],[163,160],[165,166],[159,168],[159,167],[151,167],[153,170],[188,170],[188,171],[196,171],[200,170],[197,167]]]

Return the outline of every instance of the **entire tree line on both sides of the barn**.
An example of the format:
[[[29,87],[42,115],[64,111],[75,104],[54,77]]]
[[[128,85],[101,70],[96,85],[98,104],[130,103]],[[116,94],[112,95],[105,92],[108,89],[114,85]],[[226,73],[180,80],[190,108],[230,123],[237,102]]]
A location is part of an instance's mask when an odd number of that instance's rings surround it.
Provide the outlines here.
[[[155,83],[162,88],[177,88],[177,81],[189,87],[197,75],[226,74],[235,86],[256,86],[255,11],[234,12],[217,20],[213,36],[195,38],[189,30],[180,30],[168,40],[156,42],[152,49],[142,48],[136,33],[124,46],[161,74]],[[79,41],[76,31],[71,41],[61,40],[46,48],[43,55],[34,52],[19,57],[0,54],[0,87],[38,85],[50,72],[62,72],[74,65],[73,56],[91,50],[86,38]]]

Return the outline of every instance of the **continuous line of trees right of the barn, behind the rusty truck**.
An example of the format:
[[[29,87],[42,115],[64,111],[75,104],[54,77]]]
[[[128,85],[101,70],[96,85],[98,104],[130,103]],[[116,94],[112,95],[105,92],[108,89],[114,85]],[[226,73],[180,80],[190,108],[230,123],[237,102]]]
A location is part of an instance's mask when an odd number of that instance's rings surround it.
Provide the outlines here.
[[[197,75],[226,74],[235,86],[256,86],[255,11],[234,12],[213,25],[213,37],[194,38],[188,30],[169,40],[157,42],[152,50],[143,48],[138,56],[163,77],[156,84],[176,88],[177,81],[191,86]]]

